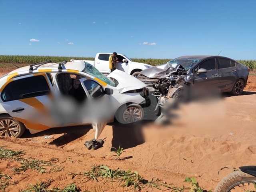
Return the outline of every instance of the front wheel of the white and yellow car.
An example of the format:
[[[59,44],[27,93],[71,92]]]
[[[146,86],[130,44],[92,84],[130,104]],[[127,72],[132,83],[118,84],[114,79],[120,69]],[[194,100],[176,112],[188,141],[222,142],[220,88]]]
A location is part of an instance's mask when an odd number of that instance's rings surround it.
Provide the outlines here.
[[[122,124],[134,123],[142,120],[144,110],[139,104],[129,104],[121,106],[116,112],[116,120]]]

